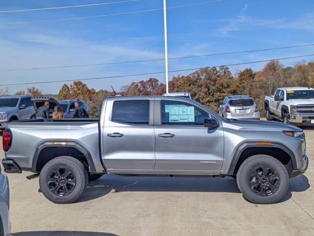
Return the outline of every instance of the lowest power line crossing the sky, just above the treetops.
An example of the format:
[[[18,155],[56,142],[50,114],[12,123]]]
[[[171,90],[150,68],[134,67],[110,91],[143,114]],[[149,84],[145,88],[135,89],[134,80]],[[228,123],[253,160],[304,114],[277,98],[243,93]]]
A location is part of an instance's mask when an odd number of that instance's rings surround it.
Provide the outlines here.
[[[169,72],[170,73],[183,72],[183,71],[191,71],[191,70],[200,70],[200,69],[205,69],[205,68],[215,68],[215,67],[221,67],[221,66],[244,65],[244,64],[253,64],[253,63],[259,63],[259,62],[274,61],[274,60],[285,60],[285,59],[304,58],[304,57],[312,57],[312,56],[314,56],[314,54],[295,56],[295,57],[278,58],[278,59],[257,60],[257,61],[241,62],[241,63],[233,63],[233,64],[225,64],[225,65],[206,66],[206,67],[200,67],[200,68],[172,70]],[[79,79],[79,80],[58,80],[58,81],[28,82],[28,83],[18,83],[18,84],[3,84],[0,86],[51,84],[51,83],[60,83],[60,82],[88,81],[88,80],[101,80],[101,79],[112,79],[112,78],[133,77],[133,76],[143,76],[143,75],[156,75],[156,74],[163,74],[163,73],[165,73],[165,72],[163,71],[163,72],[149,72],[149,73],[131,74],[131,75],[116,75],[116,76],[106,76],[106,77],[85,78],[85,79]]]

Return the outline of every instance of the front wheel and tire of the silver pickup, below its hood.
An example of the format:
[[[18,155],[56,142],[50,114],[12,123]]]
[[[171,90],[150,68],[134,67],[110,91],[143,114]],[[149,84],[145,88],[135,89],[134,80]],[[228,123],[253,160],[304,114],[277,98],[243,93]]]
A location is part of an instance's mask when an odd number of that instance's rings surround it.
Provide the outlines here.
[[[259,175],[258,168],[268,168],[270,174]],[[255,204],[277,203],[289,187],[289,175],[285,166],[276,158],[262,154],[246,159],[238,170],[236,180],[244,198]],[[252,187],[253,185],[257,186]]]

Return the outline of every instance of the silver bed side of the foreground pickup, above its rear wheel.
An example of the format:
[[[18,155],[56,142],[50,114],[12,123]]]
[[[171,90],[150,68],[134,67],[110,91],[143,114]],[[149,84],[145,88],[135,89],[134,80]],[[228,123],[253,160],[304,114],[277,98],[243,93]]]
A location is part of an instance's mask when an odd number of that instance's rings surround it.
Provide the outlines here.
[[[84,155],[88,153],[93,172],[102,173],[104,170],[99,148],[99,119],[30,119],[9,122],[6,128],[12,133],[12,144],[6,158],[14,159],[22,170],[31,170],[37,157],[57,155],[52,151],[58,151],[54,147],[62,147],[58,142],[64,142],[66,147],[76,148]],[[43,154],[43,147],[52,149]]]

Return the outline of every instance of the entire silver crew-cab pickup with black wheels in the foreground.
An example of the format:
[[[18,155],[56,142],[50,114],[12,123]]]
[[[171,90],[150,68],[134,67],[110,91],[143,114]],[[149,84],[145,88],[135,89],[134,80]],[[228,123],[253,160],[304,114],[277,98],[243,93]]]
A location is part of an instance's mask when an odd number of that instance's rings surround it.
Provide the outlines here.
[[[57,204],[76,201],[105,174],[230,176],[247,200],[271,204],[308,167],[302,129],[221,118],[173,96],[108,97],[99,120],[11,122],[2,140],[5,172],[37,173]]]

